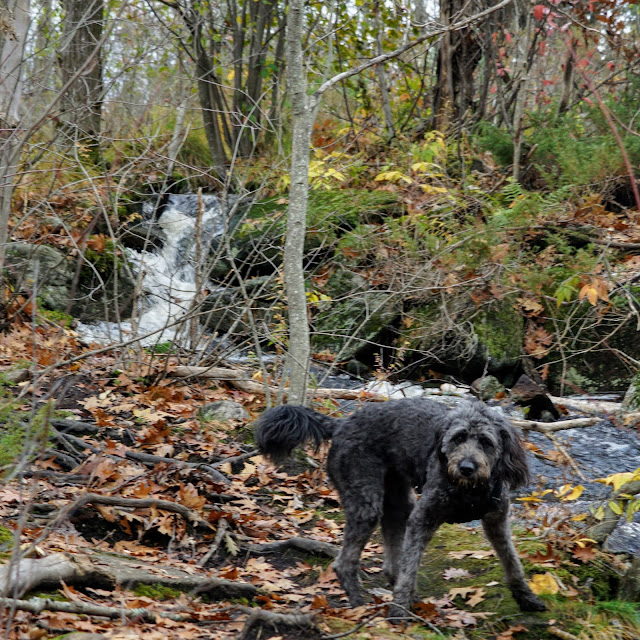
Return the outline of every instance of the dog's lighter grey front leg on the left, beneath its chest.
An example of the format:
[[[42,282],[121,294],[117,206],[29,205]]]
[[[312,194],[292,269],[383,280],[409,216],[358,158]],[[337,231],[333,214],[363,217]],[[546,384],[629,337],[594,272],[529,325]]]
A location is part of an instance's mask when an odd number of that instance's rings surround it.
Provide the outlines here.
[[[402,545],[400,573],[393,590],[393,604],[389,609],[392,619],[407,617],[407,610],[413,602],[422,553],[442,524],[437,517],[436,496],[435,491],[423,493],[409,516]]]

